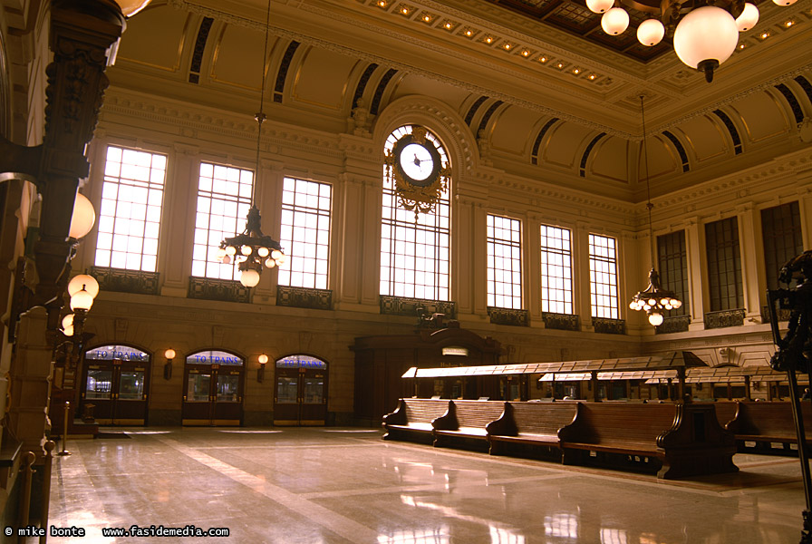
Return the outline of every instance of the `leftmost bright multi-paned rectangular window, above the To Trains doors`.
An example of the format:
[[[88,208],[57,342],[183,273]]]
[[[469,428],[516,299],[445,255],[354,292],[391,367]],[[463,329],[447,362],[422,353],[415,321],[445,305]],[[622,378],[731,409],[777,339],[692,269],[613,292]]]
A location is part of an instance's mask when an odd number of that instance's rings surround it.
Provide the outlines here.
[[[107,148],[94,259],[97,267],[156,271],[166,170],[165,155]]]

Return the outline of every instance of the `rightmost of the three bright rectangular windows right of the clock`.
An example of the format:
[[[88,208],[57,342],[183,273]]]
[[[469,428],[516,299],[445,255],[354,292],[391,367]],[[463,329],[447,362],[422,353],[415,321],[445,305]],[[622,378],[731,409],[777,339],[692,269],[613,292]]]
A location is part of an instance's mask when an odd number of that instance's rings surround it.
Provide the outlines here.
[[[614,238],[589,235],[589,290],[592,316],[617,319],[617,248]]]

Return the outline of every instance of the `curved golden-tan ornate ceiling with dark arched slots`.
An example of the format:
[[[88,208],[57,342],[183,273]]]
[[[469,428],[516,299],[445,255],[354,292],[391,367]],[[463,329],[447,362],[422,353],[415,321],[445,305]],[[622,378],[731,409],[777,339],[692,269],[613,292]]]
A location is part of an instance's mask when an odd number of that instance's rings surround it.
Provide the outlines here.
[[[812,118],[812,0],[759,8],[705,83],[670,44],[635,45],[633,28],[605,35],[579,0],[272,0],[269,117],[341,133],[356,108],[374,123],[425,95],[459,114],[497,168],[541,166],[547,179],[639,201],[641,95],[655,193],[809,145],[798,133]],[[266,9],[153,0],[122,38],[112,94],[252,116]]]

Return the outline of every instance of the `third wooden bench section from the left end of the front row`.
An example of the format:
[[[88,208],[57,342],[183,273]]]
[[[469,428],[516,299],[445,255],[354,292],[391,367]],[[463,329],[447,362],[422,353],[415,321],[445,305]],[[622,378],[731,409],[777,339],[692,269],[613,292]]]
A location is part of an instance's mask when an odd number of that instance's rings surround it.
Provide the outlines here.
[[[573,423],[577,403],[505,403],[505,412],[488,423],[490,453],[498,455],[512,444],[525,444],[560,459],[558,430]],[[536,449],[537,448],[537,449]],[[516,448],[513,448],[516,451]]]

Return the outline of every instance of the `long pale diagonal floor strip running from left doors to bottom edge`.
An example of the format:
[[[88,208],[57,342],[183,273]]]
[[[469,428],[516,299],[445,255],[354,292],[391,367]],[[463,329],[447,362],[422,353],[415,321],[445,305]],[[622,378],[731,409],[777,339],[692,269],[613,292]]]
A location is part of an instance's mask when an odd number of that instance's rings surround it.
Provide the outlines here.
[[[184,455],[188,456],[190,459],[194,461],[198,461],[201,464],[207,465],[207,462],[204,461],[211,461],[215,464],[219,465],[227,465],[227,463],[223,461],[219,461],[218,459],[211,457],[210,455],[198,452],[192,448],[185,446],[184,444],[174,440],[174,439],[165,439],[161,442],[165,442],[169,447],[176,449],[178,452],[183,453]],[[230,465],[227,465],[230,466]],[[358,523],[357,521],[351,520],[349,518],[344,517],[343,515],[330,510],[320,504],[315,502],[311,502],[309,500],[304,500],[300,496],[297,496],[295,493],[291,491],[287,491],[284,488],[280,488],[275,486],[267,481],[263,481],[256,476],[247,474],[245,471],[241,471],[232,467],[234,471],[229,471],[230,474],[237,475],[237,473],[242,473],[245,481],[257,481],[261,482],[261,486],[255,488],[253,486],[247,486],[252,491],[256,491],[270,500],[275,501],[279,505],[283,506],[288,510],[292,510],[299,515],[302,515],[315,523],[323,526],[325,529],[333,531],[337,535],[342,536],[345,539],[349,539],[352,542],[372,542],[375,541],[378,537],[378,532]],[[217,471],[217,469],[213,469]],[[222,472],[221,472],[222,473]],[[233,476],[229,474],[224,474],[228,478],[232,480],[238,481],[239,483],[244,483],[243,478],[237,480]]]

